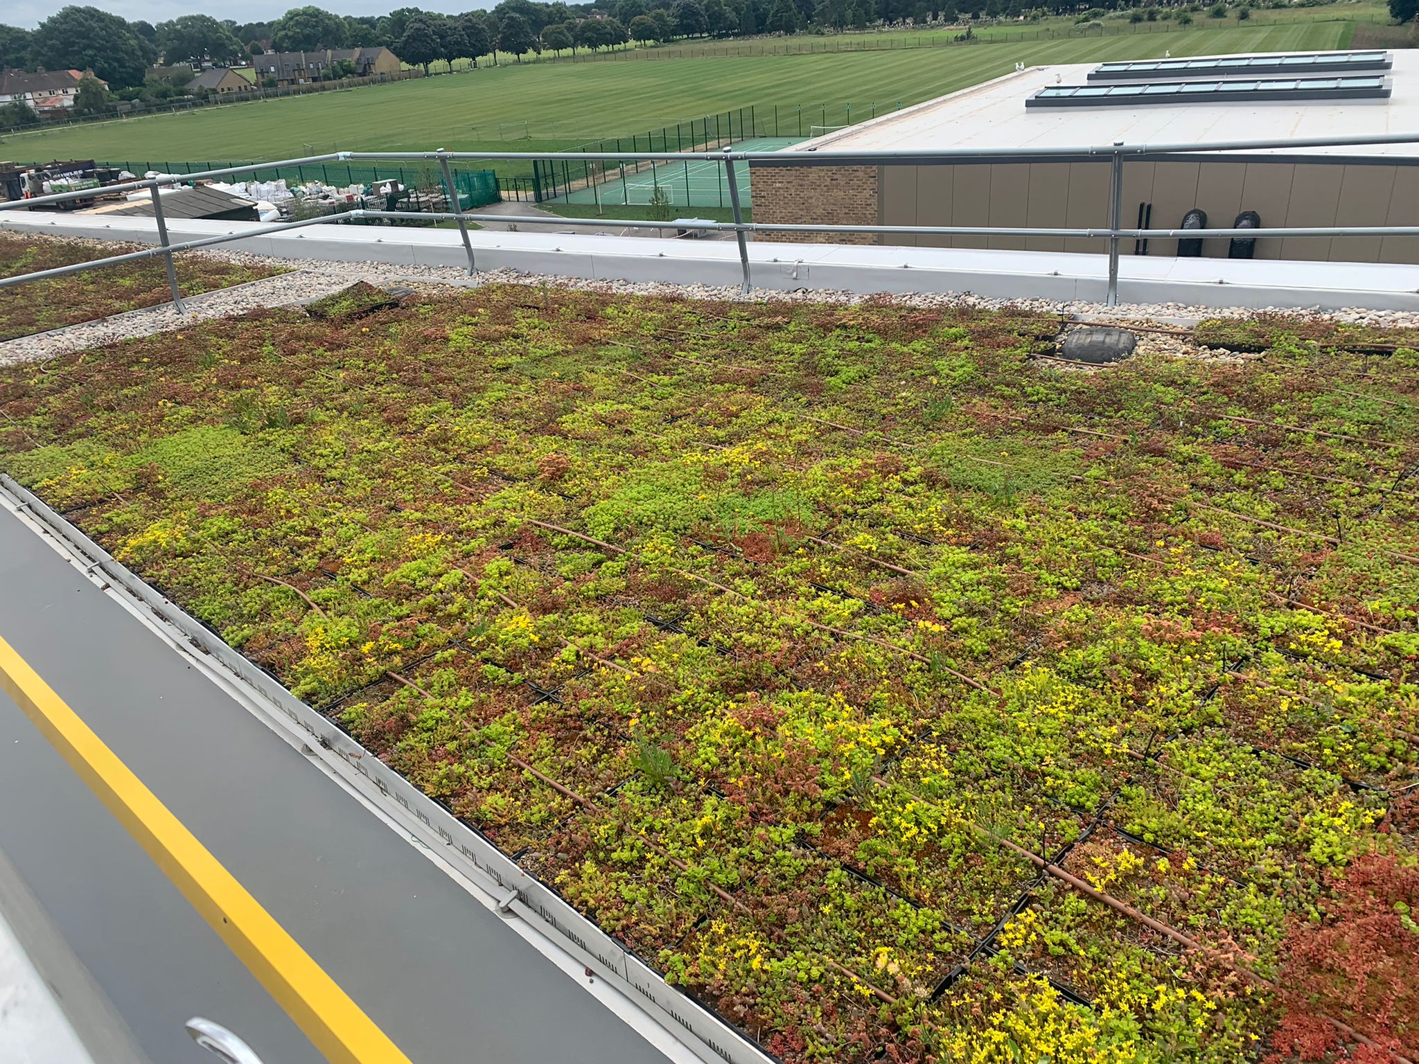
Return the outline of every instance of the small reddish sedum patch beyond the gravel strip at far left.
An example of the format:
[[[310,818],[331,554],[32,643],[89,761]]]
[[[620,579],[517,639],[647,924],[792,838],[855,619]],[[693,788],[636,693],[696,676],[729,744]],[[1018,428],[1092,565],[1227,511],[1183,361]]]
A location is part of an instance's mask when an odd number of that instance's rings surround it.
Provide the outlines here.
[[[139,250],[138,244],[109,244],[98,250],[43,237],[0,234],[0,277],[33,274]],[[177,255],[177,284],[183,295],[230,288],[280,272],[284,271],[203,255]],[[172,291],[167,288],[167,270],[162,258],[121,262],[102,270],[0,288],[0,343],[170,301]]]

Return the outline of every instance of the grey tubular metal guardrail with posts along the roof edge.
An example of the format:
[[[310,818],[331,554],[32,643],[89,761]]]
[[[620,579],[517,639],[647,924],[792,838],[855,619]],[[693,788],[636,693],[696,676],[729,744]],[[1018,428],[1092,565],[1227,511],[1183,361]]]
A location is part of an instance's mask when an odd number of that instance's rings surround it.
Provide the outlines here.
[[[270,233],[282,233],[301,226],[338,224],[342,221],[358,221],[362,218],[407,218],[412,221],[455,221],[464,251],[468,257],[468,272],[477,272],[473,241],[468,237],[468,223],[492,221],[517,226],[604,226],[603,218],[563,218],[539,217],[522,214],[473,214],[463,210],[458,194],[454,190],[450,162],[471,160],[542,160],[565,159],[569,162],[614,162],[622,159],[639,159],[651,162],[714,162],[725,167],[725,179],[729,190],[729,206],[734,221],[634,221],[617,220],[619,226],[627,228],[650,230],[725,230],[732,231],[738,241],[739,265],[744,274],[742,288],[748,294],[749,278],[749,248],[748,233],[841,233],[841,234],[900,234],[927,237],[1069,237],[1083,240],[1107,241],[1108,254],[1108,294],[1110,306],[1118,302],[1118,247],[1121,240],[1168,240],[1168,238],[1243,238],[1256,240],[1260,237],[1416,237],[1419,226],[1291,226],[1273,228],[1121,228],[1121,211],[1124,197],[1124,165],[1130,157],[1158,156],[1158,155],[1208,155],[1216,152],[1288,152],[1305,148],[1359,148],[1376,145],[1419,143],[1419,132],[1413,133],[1378,133],[1364,136],[1334,136],[1334,138],[1296,138],[1290,140],[1220,140],[1212,143],[1124,143],[1115,140],[1111,145],[1083,146],[1083,148],[952,148],[939,150],[861,150],[834,152],[832,149],[807,149],[800,152],[736,152],[725,148],[717,152],[448,152],[437,149],[433,152],[335,152],[326,155],[302,156],[299,159],[282,159],[268,163],[247,163],[241,166],[227,166],[214,170],[200,170],[197,173],[163,174],[159,177],[125,182],[122,184],[105,186],[104,193],[126,193],[148,190],[153,200],[153,214],[158,221],[156,248],[132,251],[122,255],[109,255],[88,262],[74,262],[53,270],[40,270],[30,274],[16,274],[0,278],[0,288],[10,285],[41,281],[50,277],[62,277],[82,270],[96,270],[99,267],[129,262],[140,258],[162,255],[167,267],[167,284],[172,289],[173,304],[183,309],[182,292],[177,285],[177,275],[173,267],[173,255],[194,248],[213,247],[234,240],[247,240]],[[1077,162],[1098,160],[1110,163],[1108,187],[1108,224],[1105,227],[1087,228],[1059,228],[1059,227],[1012,227],[1012,226],[837,226],[816,223],[756,223],[744,220],[744,201],[739,194],[735,163],[772,163],[778,166],[881,166],[888,163],[920,165],[920,163],[951,163],[965,160],[1002,159],[1026,162]],[[1286,155],[1277,155],[1284,160]],[[163,217],[160,190],[165,186],[187,184],[194,180],[209,177],[237,176],[268,170],[280,166],[302,166],[328,162],[394,162],[394,160],[426,160],[437,162],[443,180],[448,187],[451,211],[397,211],[397,210],[350,210],[343,214],[331,214],[319,218],[305,218],[302,221],[272,223],[257,228],[228,233],[200,240],[187,240],[173,244],[167,237],[167,226]],[[65,203],[68,200],[92,197],[94,190],[54,193],[50,196],[35,196],[27,200],[7,200],[0,203],[0,211],[28,210],[50,204]]]

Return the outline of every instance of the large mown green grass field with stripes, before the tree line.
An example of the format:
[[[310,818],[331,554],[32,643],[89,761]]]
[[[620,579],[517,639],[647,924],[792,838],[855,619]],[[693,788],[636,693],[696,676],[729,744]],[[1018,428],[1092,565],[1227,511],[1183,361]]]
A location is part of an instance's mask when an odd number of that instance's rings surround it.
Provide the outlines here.
[[[816,55],[687,58],[661,62],[526,64],[311,96],[18,133],[0,153],[50,159],[278,159],[345,150],[450,148],[555,150],[597,136],[753,105],[761,135],[775,106],[782,123],[837,125],[1009,72],[1016,62],[1061,64],[1210,52],[1344,48],[1349,21],[1198,26],[1178,33],[1010,44],[942,45]],[[526,121],[555,140],[507,140],[499,125]],[[779,129],[780,135],[795,131]],[[522,173],[504,165],[502,173]]]

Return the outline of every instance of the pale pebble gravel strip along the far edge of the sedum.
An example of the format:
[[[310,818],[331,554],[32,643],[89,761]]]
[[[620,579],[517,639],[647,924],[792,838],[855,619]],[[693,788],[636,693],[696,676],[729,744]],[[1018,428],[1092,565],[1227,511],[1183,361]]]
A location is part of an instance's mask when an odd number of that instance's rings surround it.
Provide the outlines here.
[[[35,235],[35,240],[55,240],[61,243],[91,247],[95,254],[101,254],[109,247],[109,241],[88,240],[84,237],[50,237]],[[1379,328],[1419,328],[1419,312],[1413,311],[1371,311],[1364,308],[1349,308],[1344,311],[1321,314],[1318,308],[1230,308],[1218,309],[1210,306],[1189,306],[1186,304],[1125,304],[1120,306],[1104,306],[1094,302],[1057,302],[1053,299],[992,299],[971,292],[920,292],[912,295],[860,295],[857,292],[822,291],[800,288],[797,291],[780,292],[755,289],[751,295],[744,295],[738,285],[680,285],[663,282],[636,281],[589,281],[583,278],[558,277],[551,274],[522,274],[515,270],[490,270],[468,277],[467,271],[458,267],[427,267],[427,265],[394,265],[387,262],[329,262],[325,260],[292,260],[254,255],[244,251],[203,250],[189,251],[190,255],[207,255],[211,258],[244,262],[250,265],[265,265],[291,270],[294,272],[280,277],[265,278],[231,289],[217,289],[189,299],[190,312],[177,314],[172,304],[162,304],[143,311],[133,311],[114,318],[72,325],[67,329],[55,329],[38,336],[21,336],[7,343],[0,343],[0,365],[16,362],[34,362],[51,359],[84,348],[95,348],[105,343],[129,339],[133,336],[148,336],[155,332],[179,329],[211,318],[226,318],[245,314],[248,311],[289,306],[318,299],[345,288],[356,281],[368,281],[373,285],[410,285],[420,291],[436,294],[440,289],[447,292],[447,287],[477,288],[485,284],[522,284],[546,285],[549,288],[569,288],[590,292],[604,292],[607,295],[668,295],[688,299],[717,299],[728,302],[783,302],[783,304],[861,304],[887,302],[901,306],[920,308],[976,308],[1002,309],[1012,308],[1020,311],[1034,311],[1040,314],[1059,314],[1080,321],[1117,321],[1118,323],[1169,323],[1192,325],[1205,318],[1250,318],[1257,314],[1310,314],[1331,321],[1352,322],[1357,325],[1372,325]],[[1235,359],[1225,352],[1208,352],[1182,342],[1179,338],[1159,338],[1156,335],[1139,336],[1139,353],[1158,349],[1181,358]]]

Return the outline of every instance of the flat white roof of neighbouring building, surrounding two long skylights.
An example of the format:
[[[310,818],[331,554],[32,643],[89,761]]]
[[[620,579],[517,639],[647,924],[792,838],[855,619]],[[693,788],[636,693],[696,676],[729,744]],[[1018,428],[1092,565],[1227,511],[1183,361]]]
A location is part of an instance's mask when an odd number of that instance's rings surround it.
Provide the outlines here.
[[[1297,149],[1311,155],[1419,156],[1419,51],[1391,52],[1388,99],[1247,104],[1147,104],[1142,106],[1030,108],[1025,101],[1054,84],[1088,84],[1097,62],[1032,67],[1015,72],[1009,45],[999,50],[1003,77],[785,149],[942,150],[949,148],[1086,148],[1179,145],[1222,140],[1413,133],[1413,143]],[[942,50],[942,61],[949,50]],[[1222,57],[1218,57],[1222,58]],[[1280,77],[1280,75],[1252,75]],[[1314,77],[1325,77],[1317,74]],[[1331,75],[1334,77],[1334,75]],[[1161,75],[1159,81],[1178,79]],[[1097,82],[1095,82],[1097,84]]]

